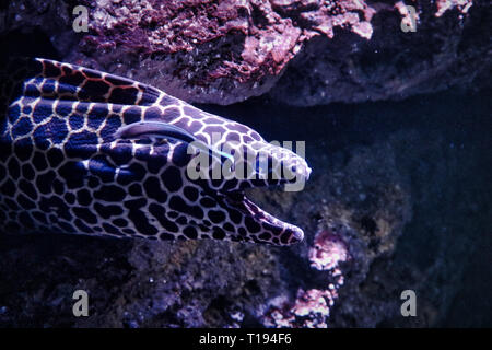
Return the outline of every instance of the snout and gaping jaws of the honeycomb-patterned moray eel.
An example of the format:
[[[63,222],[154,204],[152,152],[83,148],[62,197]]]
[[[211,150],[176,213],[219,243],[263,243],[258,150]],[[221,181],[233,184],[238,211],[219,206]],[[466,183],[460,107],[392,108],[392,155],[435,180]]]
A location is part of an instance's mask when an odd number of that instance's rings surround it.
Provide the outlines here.
[[[223,228],[214,228],[214,230],[220,230],[221,237],[226,235],[227,240],[235,242],[273,245],[291,245],[301,242],[304,238],[304,232],[300,228],[261,209],[246,196],[246,192],[251,188],[267,187],[283,187],[285,191],[301,191],[312,170],[303,156],[290,149],[265,142],[259,142],[253,149],[255,150],[236,149],[231,160],[232,164],[227,163],[229,159],[225,161],[222,159],[226,152],[220,151],[222,149],[219,147],[214,149],[216,156],[212,158],[212,163],[206,162],[210,160],[208,152],[199,153],[203,158],[197,158],[198,163],[189,163],[191,180],[197,177],[203,180],[202,187],[210,189],[209,195],[214,197],[219,206],[229,213],[230,221],[224,223]],[[219,154],[219,152],[222,153]],[[223,175],[223,177],[214,178],[216,175]],[[222,229],[230,233],[226,234]]]

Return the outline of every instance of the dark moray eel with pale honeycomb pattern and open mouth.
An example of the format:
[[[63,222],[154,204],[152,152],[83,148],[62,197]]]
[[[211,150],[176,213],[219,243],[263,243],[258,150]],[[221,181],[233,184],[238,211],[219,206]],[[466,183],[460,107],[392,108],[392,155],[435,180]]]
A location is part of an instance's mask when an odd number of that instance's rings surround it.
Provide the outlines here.
[[[0,75],[1,232],[273,245],[303,240],[301,229],[261,210],[245,189],[305,180],[311,168],[247,126],[70,63],[10,59]],[[253,167],[250,178],[190,178],[187,166],[199,156],[189,152],[194,142],[210,151],[215,166],[234,155],[233,168],[248,168],[248,156],[258,163],[261,152],[268,166]],[[221,151],[225,145],[230,152]],[[265,170],[282,176],[265,177]]]

